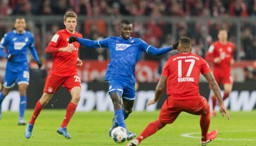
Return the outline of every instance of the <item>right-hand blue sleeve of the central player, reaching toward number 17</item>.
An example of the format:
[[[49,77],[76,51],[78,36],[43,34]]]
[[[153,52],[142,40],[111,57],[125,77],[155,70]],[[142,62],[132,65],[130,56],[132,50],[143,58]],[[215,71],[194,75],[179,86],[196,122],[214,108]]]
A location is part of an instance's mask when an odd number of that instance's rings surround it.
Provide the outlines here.
[[[148,45],[145,41],[140,40],[140,48],[142,51],[146,52],[146,53],[150,53],[153,55],[161,55],[164,54],[166,52],[171,51],[171,46],[169,47],[165,47],[165,48],[155,48],[151,45]]]

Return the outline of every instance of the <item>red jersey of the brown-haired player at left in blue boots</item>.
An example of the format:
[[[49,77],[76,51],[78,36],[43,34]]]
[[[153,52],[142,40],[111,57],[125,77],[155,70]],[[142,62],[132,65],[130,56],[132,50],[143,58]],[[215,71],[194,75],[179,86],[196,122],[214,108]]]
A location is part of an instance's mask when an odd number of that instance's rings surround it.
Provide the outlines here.
[[[70,34],[66,29],[58,31],[52,38],[49,45],[55,48],[64,48],[68,45],[73,45],[76,49],[73,52],[57,52],[53,53],[53,65],[51,72],[59,77],[68,77],[77,74],[76,60],[78,58],[79,43],[68,43],[70,36],[83,37],[75,31],[75,34]],[[49,46],[48,45],[48,46]]]

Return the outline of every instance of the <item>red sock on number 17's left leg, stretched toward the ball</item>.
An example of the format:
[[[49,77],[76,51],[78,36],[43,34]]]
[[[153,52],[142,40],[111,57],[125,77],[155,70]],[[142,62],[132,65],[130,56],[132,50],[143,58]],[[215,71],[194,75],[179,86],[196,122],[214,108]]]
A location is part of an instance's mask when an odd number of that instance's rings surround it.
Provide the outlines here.
[[[158,120],[156,120],[148,124],[147,128],[145,128],[144,131],[141,133],[141,135],[138,136],[136,139],[139,141],[139,143],[141,143],[143,139],[154,134],[155,132],[157,132],[157,130],[160,130],[163,127],[164,126],[161,123],[159,123]]]

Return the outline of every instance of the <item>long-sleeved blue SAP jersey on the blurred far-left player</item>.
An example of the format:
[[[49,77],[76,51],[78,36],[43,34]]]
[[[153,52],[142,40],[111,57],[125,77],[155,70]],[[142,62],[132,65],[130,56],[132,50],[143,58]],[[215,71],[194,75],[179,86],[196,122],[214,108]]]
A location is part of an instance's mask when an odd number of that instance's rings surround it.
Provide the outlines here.
[[[3,51],[3,48],[6,46],[7,54]],[[16,33],[16,30],[13,30],[4,34],[4,37],[0,42],[0,55],[1,57],[6,58],[7,55],[14,54],[13,59],[7,61],[6,70],[10,70],[12,72],[28,71],[28,48],[30,49],[34,60],[36,62],[39,61],[36,48],[34,47],[34,38],[32,33],[24,30],[22,34],[18,34]]]

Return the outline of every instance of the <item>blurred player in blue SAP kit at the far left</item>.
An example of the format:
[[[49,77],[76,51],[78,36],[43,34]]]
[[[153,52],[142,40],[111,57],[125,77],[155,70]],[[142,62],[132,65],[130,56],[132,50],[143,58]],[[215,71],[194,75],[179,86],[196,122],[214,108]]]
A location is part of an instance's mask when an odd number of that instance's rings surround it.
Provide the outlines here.
[[[19,86],[20,93],[20,114],[18,125],[25,125],[26,121],[23,120],[24,112],[27,104],[27,85],[29,85],[29,64],[27,62],[27,50],[29,48],[34,60],[37,62],[38,67],[42,67],[34,47],[33,34],[25,31],[25,19],[19,17],[15,20],[14,27],[16,28],[9,33],[4,34],[0,42],[0,56],[7,58],[6,72],[3,83],[3,91],[0,93],[0,119],[1,119],[1,103],[4,97],[10,92],[15,85],[15,80]],[[3,51],[7,46],[7,53]]]

